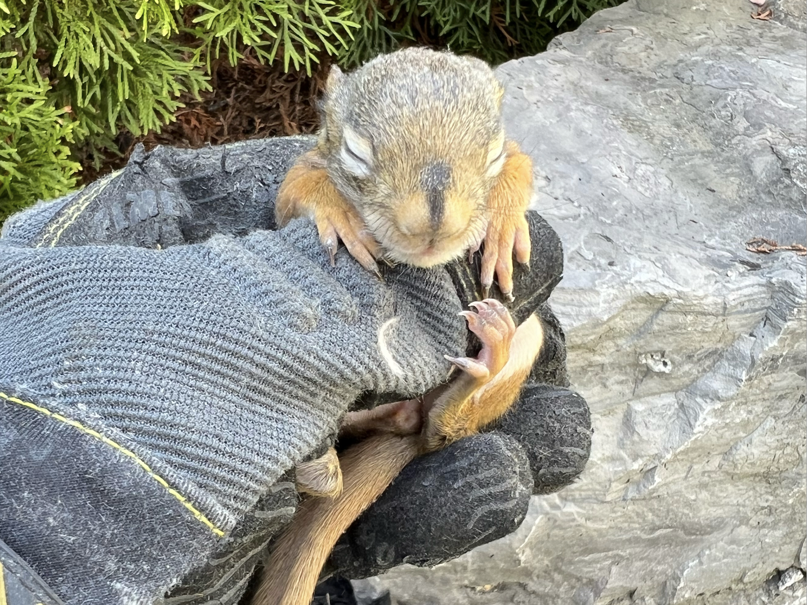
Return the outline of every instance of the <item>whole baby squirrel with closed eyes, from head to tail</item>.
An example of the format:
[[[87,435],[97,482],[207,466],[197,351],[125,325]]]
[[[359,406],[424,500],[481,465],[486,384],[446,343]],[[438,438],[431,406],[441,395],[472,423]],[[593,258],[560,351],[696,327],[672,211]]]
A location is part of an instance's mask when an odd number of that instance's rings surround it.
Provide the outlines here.
[[[483,61],[408,48],[351,74],[334,67],[311,152],[286,174],[278,226],[314,220],[331,261],[342,240],[366,269],[377,259],[420,267],[472,255],[512,300],[512,257],[529,263],[529,156],[504,138],[504,89]],[[351,412],[340,436],[369,436],[297,468],[303,499],[274,545],[253,605],[307,605],[339,536],[409,461],[478,432],[512,405],[543,341],[536,315],[516,329],[501,303],[462,311],[483,348],[447,357],[461,370],[419,400]]]

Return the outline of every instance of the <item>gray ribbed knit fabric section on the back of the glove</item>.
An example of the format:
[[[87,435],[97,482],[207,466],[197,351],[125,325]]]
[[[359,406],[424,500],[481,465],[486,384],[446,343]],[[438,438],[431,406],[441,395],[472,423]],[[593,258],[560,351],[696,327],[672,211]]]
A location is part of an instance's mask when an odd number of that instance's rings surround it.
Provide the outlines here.
[[[445,272],[332,268],[304,221],[165,250],[6,245],[0,282],[0,380],[131,449],[224,532],[359,394],[429,390],[465,343]]]

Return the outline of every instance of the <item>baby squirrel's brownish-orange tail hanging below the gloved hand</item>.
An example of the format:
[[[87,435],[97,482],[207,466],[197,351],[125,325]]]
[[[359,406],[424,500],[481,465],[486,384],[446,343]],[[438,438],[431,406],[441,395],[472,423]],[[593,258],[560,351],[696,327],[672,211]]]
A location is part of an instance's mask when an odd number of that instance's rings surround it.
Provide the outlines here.
[[[340,456],[342,493],[307,498],[278,538],[253,605],[308,605],[339,536],[383,494],[418,453],[419,435],[383,434],[353,445]]]

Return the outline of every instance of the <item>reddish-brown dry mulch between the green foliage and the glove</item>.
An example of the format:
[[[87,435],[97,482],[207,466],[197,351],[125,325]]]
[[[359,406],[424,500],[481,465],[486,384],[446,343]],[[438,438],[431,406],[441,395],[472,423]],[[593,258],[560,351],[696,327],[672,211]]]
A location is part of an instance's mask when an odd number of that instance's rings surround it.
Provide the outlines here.
[[[146,149],[159,144],[196,148],[314,132],[319,125],[316,99],[324,89],[328,69],[330,65],[324,61],[313,66],[311,77],[304,70],[284,73],[282,59],[274,65],[261,65],[249,49],[234,67],[226,59],[217,60],[211,65],[213,90],[201,93],[200,100],[184,95],[185,106],[174,114],[176,121],[159,133],[138,137],[119,133],[115,143],[123,156],[105,150],[100,169],[94,168],[92,156],[82,158],[82,184],[121,168],[137,143]]]

